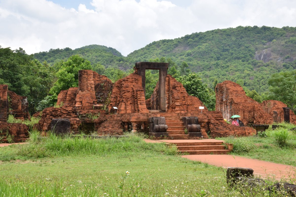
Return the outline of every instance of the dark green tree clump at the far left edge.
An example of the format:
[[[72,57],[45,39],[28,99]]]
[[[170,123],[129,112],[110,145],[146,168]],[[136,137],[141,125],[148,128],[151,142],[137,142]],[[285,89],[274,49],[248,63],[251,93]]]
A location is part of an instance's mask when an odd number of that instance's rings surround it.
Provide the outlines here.
[[[48,94],[52,82],[53,69],[46,62],[34,60],[22,48],[12,51],[0,46],[0,84],[7,84],[9,90],[27,96],[31,114]]]

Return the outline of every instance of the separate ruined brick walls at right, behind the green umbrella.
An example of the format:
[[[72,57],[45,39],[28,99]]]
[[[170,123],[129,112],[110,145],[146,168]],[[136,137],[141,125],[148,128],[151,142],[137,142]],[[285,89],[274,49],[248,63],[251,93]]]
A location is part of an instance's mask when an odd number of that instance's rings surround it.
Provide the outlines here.
[[[267,100],[259,103],[246,95],[242,87],[231,81],[224,81],[215,87],[216,111],[221,111],[223,118],[229,120],[232,115],[239,115],[245,125],[272,124],[284,121],[283,102]],[[290,110],[290,122],[296,123],[296,116]]]

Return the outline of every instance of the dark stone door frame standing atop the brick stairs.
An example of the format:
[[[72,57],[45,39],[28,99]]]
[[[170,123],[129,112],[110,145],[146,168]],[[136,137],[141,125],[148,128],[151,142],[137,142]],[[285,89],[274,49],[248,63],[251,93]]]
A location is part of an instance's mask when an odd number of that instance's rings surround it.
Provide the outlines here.
[[[146,86],[146,69],[149,70],[159,70],[159,110],[165,111],[165,78],[168,72],[169,63],[163,62],[136,62],[136,73],[142,76],[142,87],[144,89]]]

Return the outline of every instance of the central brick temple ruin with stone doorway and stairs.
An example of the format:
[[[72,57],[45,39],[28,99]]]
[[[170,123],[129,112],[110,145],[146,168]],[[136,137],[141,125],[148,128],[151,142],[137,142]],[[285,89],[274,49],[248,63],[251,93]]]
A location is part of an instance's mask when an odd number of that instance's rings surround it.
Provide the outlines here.
[[[159,82],[147,100],[146,69],[159,70]],[[134,73],[114,84],[94,71],[80,70],[78,87],[62,90],[57,100],[60,107],[44,109],[36,128],[46,132],[51,130],[52,119],[67,118],[73,133],[84,130],[112,136],[142,131],[157,139],[201,139],[207,138],[207,133],[213,137],[255,134],[253,128],[227,124],[221,112],[206,107],[199,110],[203,103],[188,95],[167,69],[168,63],[138,62]]]

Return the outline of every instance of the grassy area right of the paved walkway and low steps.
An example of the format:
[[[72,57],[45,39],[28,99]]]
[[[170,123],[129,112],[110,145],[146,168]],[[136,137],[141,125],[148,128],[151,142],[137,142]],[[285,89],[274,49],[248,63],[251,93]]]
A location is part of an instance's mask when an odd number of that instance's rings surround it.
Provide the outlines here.
[[[272,130],[271,126],[269,126],[269,128],[266,130],[267,137],[248,136],[234,138],[233,136],[230,136],[227,138],[217,139],[224,140],[226,143],[238,144],[238,150],[242,150],[245,144],[248,144],[250,147],[254,147],[248,151],[234,150],[230,154],[296,166],[296,132],[289,130],[296,126],[287,123],[279,123],[279,125],[284,127],[278,128],[274,131]],[[283,131],[289,135],[284,143],[279,143],[276,140],[274,133]],[[240,141],[244,141],[245,143],[239,143]]]

